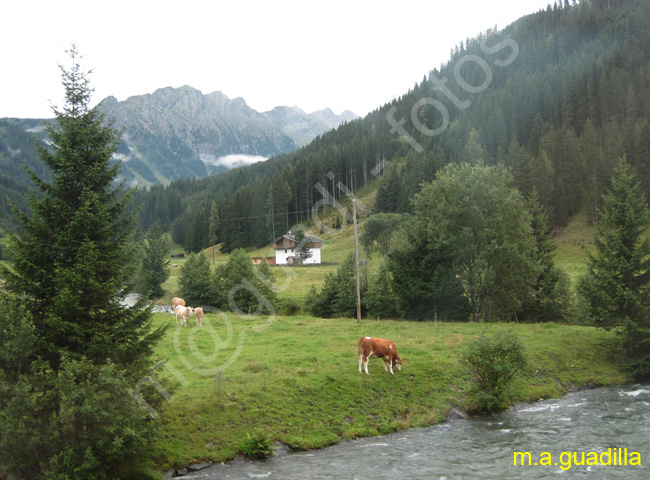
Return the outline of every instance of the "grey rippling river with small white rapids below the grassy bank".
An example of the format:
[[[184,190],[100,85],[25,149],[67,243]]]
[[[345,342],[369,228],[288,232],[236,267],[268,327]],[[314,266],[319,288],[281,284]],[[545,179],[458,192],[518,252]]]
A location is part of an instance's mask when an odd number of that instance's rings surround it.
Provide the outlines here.
[[[530,456],[518,455],[514,465],[515,452]],[[634,385],[572,392],[486,418],[265,461],[238,459],[182,478],[645,480],[648,462],[650,385]]]

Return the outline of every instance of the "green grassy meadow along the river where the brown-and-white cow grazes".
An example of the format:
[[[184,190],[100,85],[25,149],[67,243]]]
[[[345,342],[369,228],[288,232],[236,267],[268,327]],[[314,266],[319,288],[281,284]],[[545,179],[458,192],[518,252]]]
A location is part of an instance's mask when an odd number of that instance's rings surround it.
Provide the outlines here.
[[[591,327],[212,313],[201,328],[178,328],[165,313],[154,320],[172,323],[157,352],[168,362],[158,373],[177,384],[157,412],[160,470],[232,459],[247,434],[313,449],[444,421],[463,408],[469,385],[457,356],[483,331],[511,330],[526,349],[513,404],[629,381],[614,335]],[[402,371],[391,376],[372,359],[370,375],[359,375],[356,343],[365,335],[392,339]]]

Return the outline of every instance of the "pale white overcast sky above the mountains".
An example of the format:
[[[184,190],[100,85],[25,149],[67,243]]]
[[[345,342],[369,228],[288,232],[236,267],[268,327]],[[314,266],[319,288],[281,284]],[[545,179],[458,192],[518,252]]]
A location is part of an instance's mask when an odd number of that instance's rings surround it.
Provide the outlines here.
[[[0,117],[50,118],[77,45],[92,104],[162,87],[359,115],[406,93],[467,37],[548,0],[6,0]]]

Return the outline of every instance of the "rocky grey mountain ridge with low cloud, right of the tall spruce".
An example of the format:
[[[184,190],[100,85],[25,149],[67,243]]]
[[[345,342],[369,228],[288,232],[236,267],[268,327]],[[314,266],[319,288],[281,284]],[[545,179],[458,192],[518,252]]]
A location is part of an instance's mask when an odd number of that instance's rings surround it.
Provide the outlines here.
[[[188,85],[123,101],[107,97],[99,107],[123,130],[124,169],[145,185],[188,176],[184,170],[196,177],[219,173],[227,169],[219,159],[230,155],[257,161],[288,153],[358,118],[349,110],[336,115],[329,108],[311,114],[285,106],[258,112],[242,97],[203,94]]]

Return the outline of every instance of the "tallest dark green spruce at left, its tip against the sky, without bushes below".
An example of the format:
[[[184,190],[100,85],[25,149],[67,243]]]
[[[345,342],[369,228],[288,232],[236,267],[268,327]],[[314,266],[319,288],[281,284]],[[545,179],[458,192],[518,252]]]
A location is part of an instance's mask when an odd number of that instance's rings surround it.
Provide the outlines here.
[[[148,312],[123,305],[137,262],[131,193],[115,186],[119,164],[111,162],[120,134],[89,109],[87,73],[74,47],[70,56],[71,69],[61,67],[65,106],[46,127],[51,148],[39,148],[52,180],[28,172],[43,195],[30,196],[31,216],[17,212],[22,231],[2,273],[32,312],[39,352],[52,367],[62,356],[126,366],[151,353],[160,332],[149,333]]]

